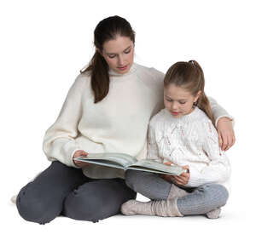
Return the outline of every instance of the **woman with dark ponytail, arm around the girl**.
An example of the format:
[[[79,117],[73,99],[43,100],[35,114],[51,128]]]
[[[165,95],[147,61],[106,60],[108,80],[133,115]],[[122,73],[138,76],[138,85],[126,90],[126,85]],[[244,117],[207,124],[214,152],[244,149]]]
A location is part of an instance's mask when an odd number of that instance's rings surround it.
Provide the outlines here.
[[[62,214],[96,222],[119,214],[122,203],[136,197],[122,170],[73,159],[105,151],[146,157],[149,119],[163,108],[164,74],[133,63],[135,33],[125,19],[102,20],[94,39],[90,65],[44,136],[44,153],[52,163],[17,197],[25,220],[44,224]],[[212,113],[227,150],[235,140],[229,115],[213,100]]]

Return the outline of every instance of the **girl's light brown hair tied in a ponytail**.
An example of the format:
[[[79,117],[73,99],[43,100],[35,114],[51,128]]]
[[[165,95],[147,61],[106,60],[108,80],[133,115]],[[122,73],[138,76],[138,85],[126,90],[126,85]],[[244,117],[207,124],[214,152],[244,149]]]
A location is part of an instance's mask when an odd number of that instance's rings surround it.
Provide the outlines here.
[[[205,94],[205,77],[201,66],[195,60],[189,60],[189,62],[178,61],[172,65],[166,72],[166,77],[164,79],[164,86],[169,84],[175,84],[177,87],[189,91],[193,96],[201,91],[201,94],[195,103],[202,111],[207,114],[212,121],[213,126],[215,126],[210,102]]]

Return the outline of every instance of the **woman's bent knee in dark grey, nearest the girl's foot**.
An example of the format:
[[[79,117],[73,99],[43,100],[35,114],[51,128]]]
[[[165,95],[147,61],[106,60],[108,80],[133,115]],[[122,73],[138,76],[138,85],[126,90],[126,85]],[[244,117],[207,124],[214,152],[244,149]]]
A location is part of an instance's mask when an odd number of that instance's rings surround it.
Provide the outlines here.
[[[119,214],[122,203],[136,197],[124,180],[95,180],[79,186],[64,202],[63,214],[96,222]]]

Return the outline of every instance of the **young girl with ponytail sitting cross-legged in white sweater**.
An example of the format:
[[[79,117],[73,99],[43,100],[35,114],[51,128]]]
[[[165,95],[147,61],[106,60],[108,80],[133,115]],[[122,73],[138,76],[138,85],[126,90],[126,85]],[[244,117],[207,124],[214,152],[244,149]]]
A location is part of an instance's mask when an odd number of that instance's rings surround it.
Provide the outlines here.
[[[218,218],[229,197],[230,163],[218,146],[218,134],[205,79],[195,61],[177,62],[164,79],[165,109],[149,123],[148,158],[187,169],[180,176],[127,171],[127,186],[152,201],[130,200],[123,214]]]

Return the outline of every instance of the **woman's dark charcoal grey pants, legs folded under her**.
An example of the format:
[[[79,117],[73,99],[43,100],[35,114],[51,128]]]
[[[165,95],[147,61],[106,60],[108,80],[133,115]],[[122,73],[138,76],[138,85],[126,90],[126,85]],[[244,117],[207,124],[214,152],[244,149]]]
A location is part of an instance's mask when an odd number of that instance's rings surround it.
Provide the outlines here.
[[[17,209],[25,220],[48,223],[58,215],[96,222],[119,214],[120,206],[136,198],[125,180],[92,180],[81,169],[53,162],[17,197]]]

